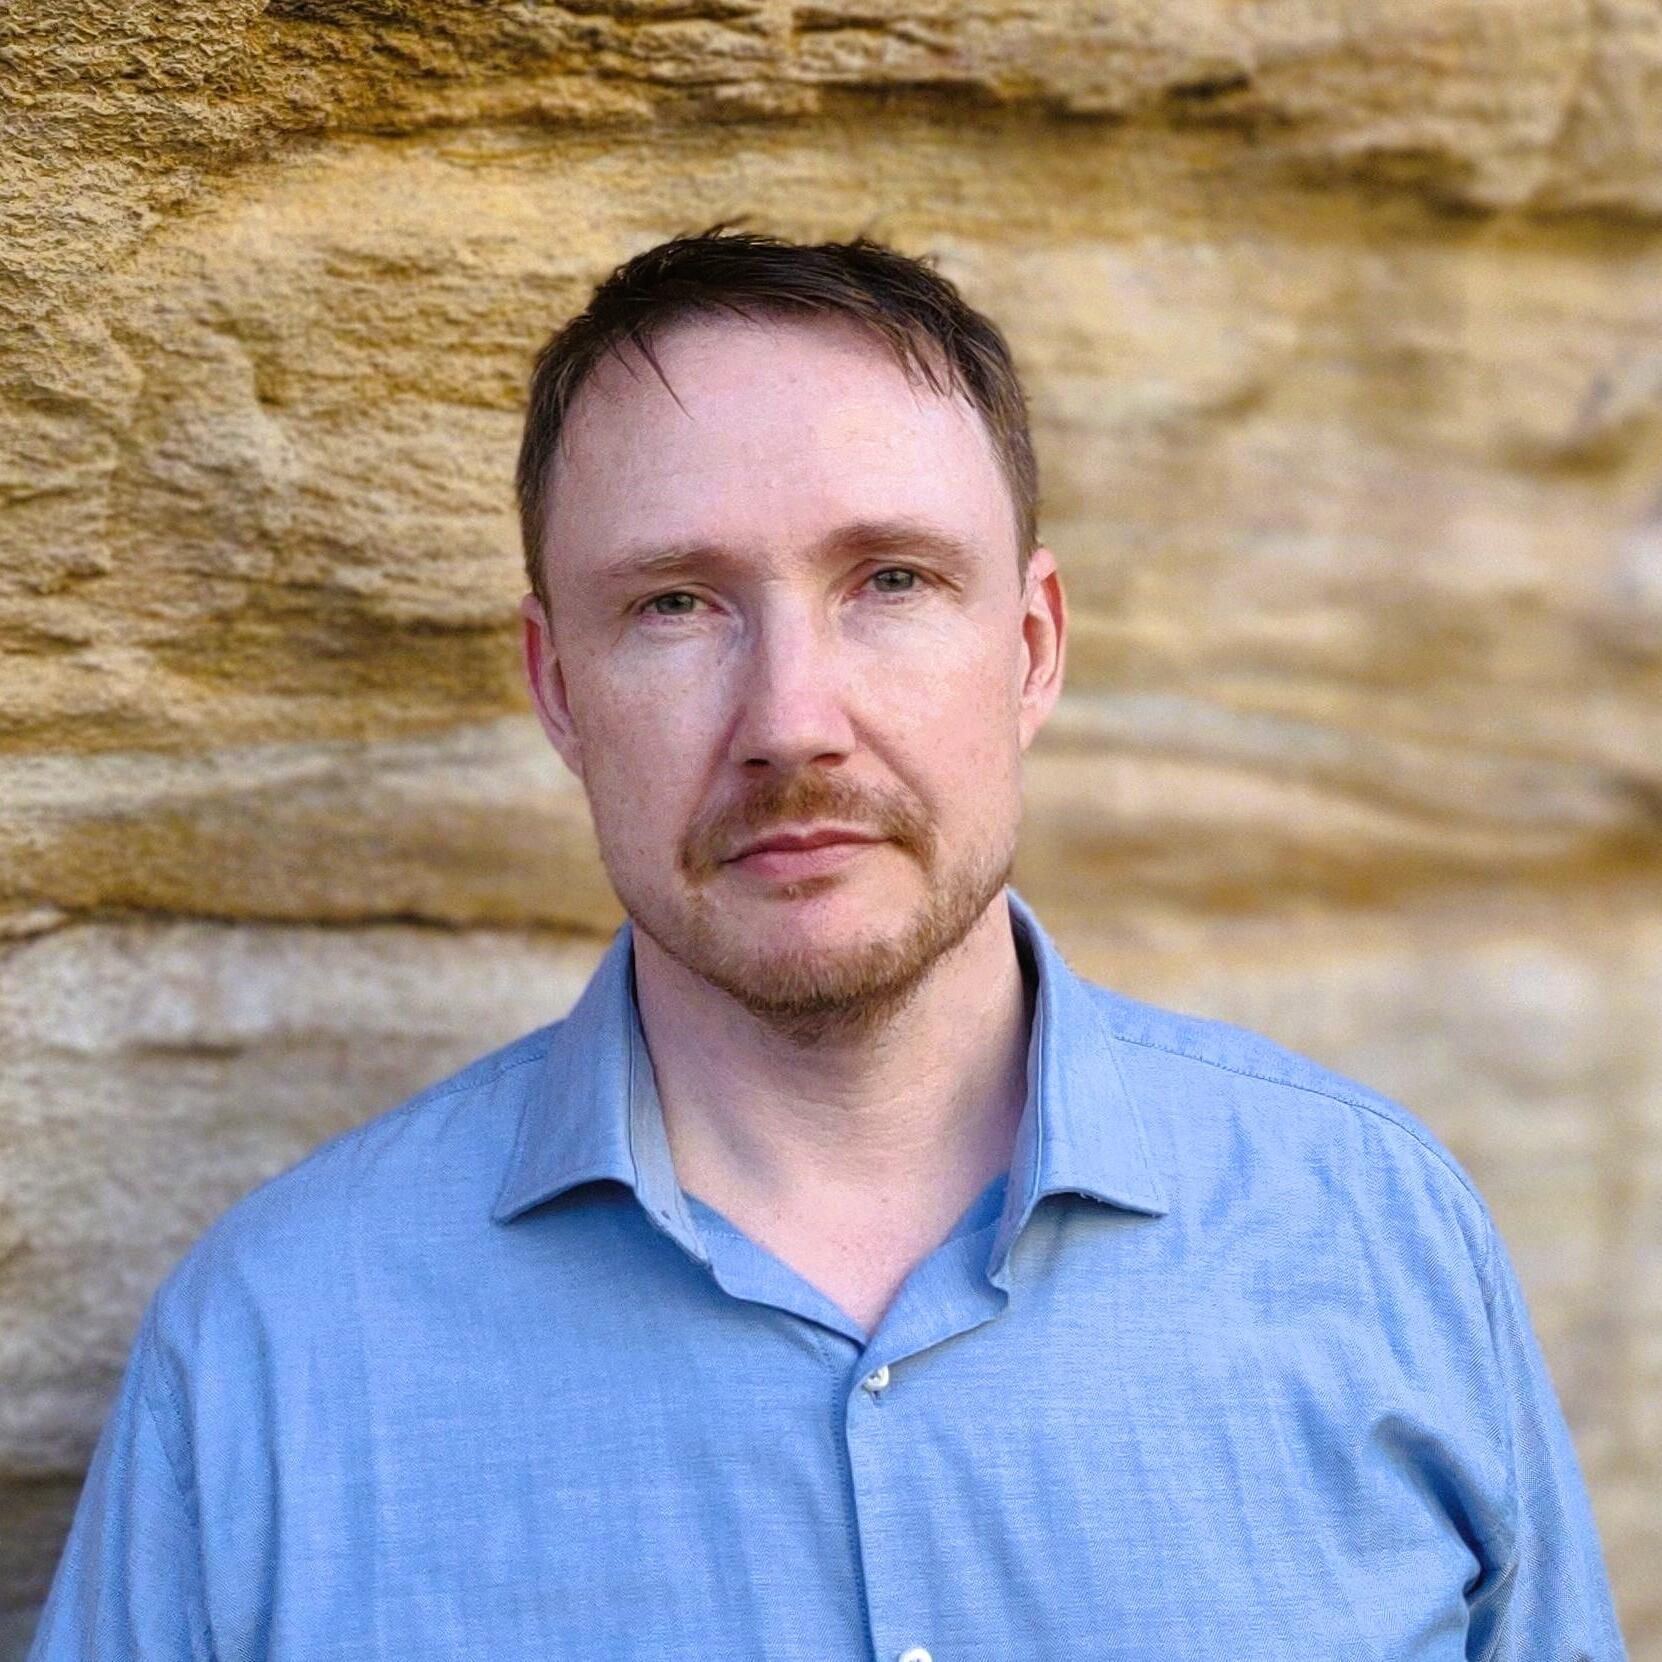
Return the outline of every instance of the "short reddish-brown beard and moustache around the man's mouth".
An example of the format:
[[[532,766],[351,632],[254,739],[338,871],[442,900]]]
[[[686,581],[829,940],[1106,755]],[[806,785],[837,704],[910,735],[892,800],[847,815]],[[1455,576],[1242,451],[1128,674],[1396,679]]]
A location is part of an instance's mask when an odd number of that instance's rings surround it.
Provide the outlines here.
[[[889,937],[818,949],[761,949],[746,939],[711,894],[721,866],[746,841],[781,824],[831,819],[886,838],[924,876],[924,899]],[[605,843],[602,843],[605,853]],[[916,997],[932,967],[986,916],[1009,883],[1014,834],[977,846],[946,871],[939,839],[912,798],[856,791],[834,774],[799,773],[758,786],[736,806],[695,823],[676,861],[686,899],[633,891],[612,871],[612,886],[635,927],[665,954],[718,987],[773,1032],[801,1047],[881,1030]],[[841,883],[839,874],[779,884],[773,897],[808,899]]]

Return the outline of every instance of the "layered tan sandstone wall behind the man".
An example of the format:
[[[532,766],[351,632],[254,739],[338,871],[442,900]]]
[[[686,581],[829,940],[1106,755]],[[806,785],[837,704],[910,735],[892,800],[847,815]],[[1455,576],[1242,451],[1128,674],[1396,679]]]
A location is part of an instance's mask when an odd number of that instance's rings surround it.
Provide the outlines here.
[[[1662,0],[13,0],[0,136],[0,1655],[193,1235],[615,924],[522,381],[748,216],[1007,322],[1017,881],[1468,1163],[1662,1659]]]

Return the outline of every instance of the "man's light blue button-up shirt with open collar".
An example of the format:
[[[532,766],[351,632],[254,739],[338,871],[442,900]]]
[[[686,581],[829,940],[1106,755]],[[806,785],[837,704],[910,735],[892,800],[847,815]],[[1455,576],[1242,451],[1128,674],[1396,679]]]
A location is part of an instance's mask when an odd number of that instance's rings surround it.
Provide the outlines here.
[[[625,926],[168,1278],[37,1662],[1620,1657],[1456,1162],[1009,906],[1010,1172],[874,1333],[676,1185]]]

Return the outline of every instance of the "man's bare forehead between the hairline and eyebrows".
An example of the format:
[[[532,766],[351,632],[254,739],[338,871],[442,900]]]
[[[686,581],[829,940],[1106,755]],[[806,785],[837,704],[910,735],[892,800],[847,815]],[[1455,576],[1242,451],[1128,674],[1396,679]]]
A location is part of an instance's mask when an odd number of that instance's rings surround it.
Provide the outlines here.
[[[572,404],[550,479],[550,578],[643,542],[783,553],[881,520],[1012,557],[1014,510],[979,411],[909,377],[858,324],[693,319],[653,352],[663,379],[628,351]]]

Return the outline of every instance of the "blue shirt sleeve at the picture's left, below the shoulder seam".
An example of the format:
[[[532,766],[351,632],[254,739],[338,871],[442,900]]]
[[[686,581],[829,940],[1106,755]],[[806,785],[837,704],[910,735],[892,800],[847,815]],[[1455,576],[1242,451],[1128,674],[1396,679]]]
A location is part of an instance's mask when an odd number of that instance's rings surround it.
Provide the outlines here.
[[[211,1662],[196,1511],[153,1318],[98,1438],[27,1662]]]

